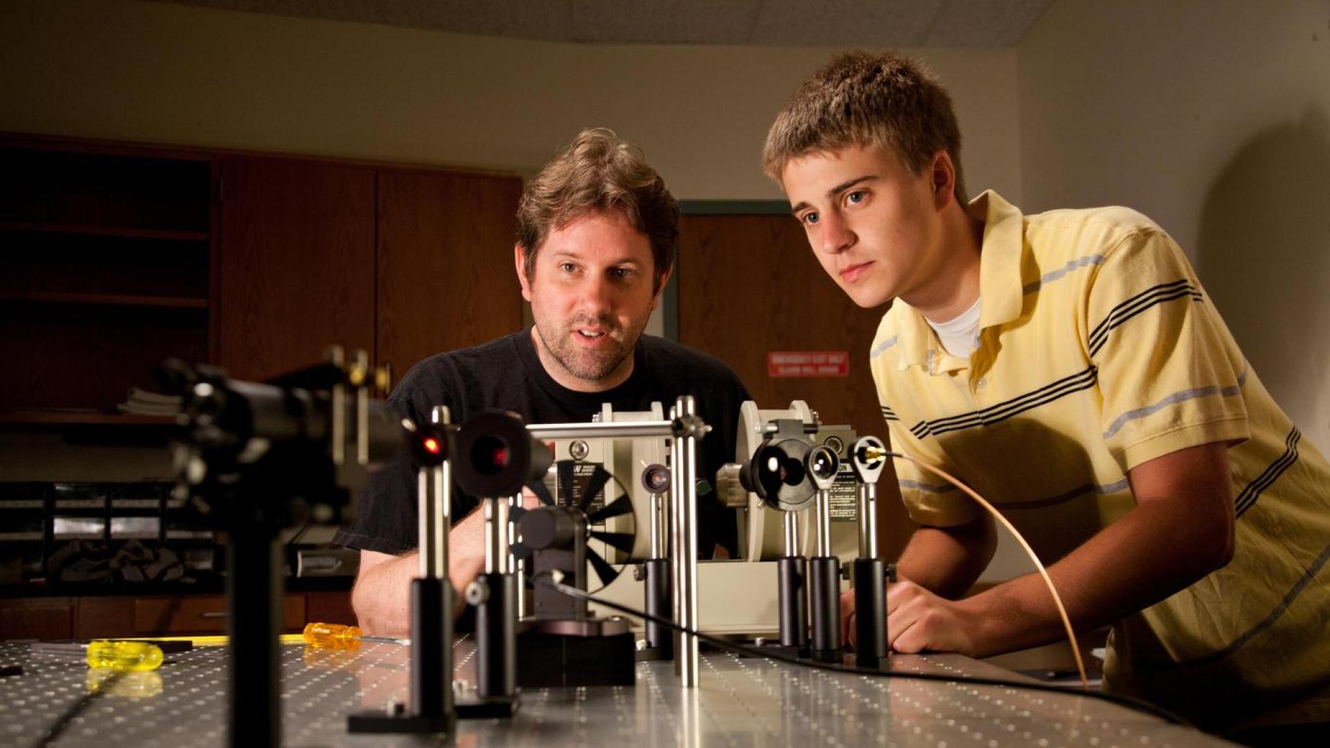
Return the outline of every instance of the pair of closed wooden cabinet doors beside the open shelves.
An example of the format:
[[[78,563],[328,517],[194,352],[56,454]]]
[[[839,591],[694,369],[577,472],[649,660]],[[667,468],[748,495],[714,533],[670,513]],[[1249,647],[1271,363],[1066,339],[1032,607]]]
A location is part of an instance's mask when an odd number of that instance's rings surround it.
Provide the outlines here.
[[[404,371],[521,326],[516,177],[227,157],[219,361],[266,379],[339,343]]]

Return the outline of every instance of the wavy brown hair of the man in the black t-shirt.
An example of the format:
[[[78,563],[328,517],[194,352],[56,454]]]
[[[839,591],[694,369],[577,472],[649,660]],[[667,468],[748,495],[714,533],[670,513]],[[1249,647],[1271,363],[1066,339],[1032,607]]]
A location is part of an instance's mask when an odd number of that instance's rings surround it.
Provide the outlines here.
[[[527,182],[517,205],[517,244],[525,252],[527,280],[536,272],[536,253],[549,232],[602,210],[622,212],[646,234],[656,265],[652,289],[660,290],[661,276],[674,264],[678,201],[641,150],[605,128],[579,133]]]

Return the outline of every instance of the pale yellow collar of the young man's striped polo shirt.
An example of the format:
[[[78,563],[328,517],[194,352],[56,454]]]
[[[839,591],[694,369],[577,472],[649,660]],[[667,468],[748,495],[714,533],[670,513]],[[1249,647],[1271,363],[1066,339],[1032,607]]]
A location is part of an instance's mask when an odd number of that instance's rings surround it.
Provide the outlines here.
[[[994,190],[986,190],[970,201],[966,210],[984,221],[984,236],[979,250],[979,329],[1004,325],[1020,317],[1024,290],[1020,282],[1020,260],[1024,252],[1024,216]],[[900,358],[898,367],[922,366],[931,374],[956,371],[970,366],[970,361],[950,355],[934,341],[936,335],[928,321],[916,309],[899,298],[902,306],[896,322]]]

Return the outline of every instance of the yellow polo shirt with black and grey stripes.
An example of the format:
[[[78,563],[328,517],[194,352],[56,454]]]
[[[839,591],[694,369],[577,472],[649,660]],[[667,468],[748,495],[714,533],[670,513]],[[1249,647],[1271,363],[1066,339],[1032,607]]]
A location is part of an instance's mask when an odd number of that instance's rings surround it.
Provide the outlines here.
[[[1125,208],[1023,216],[987,192],[968,209],[984,220],[979,347],[948,355],[892,303],[870,353],[892,445],[962,476],[1051,564],[1136,506],[1132,467],[1226,442],[1233,562],[1115,626],[1105,685],[1213,729],[1277,704],[1319,709],[1307,695],[1330,683],[1330,466],[1181,249]],[[896,472],[922,524],[983,512],[910,463]]]

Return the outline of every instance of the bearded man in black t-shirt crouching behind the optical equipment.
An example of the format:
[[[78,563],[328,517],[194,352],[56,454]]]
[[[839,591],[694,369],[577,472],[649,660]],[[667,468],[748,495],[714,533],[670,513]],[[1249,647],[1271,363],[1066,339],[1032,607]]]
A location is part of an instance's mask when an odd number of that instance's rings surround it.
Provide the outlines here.
[[[712,426],[700,442],[700,476],[712,484],[734,457],[747,390],[725,363],[660,338],[642,337],[673,269],[678,204],[626,142],[585,130],[532,178],[517,208],[513,258],[535,325],[488,343],[415,365],[388,398],[403,415],[427,421],[447,405],[454,422],[499,407],[528,423],[591,421],[614,411],[666,410],[697,398]],[[700,494],[698,548],[733,555],[734,514],[714,492]],[[476,498],[454,487],[450,576],[462,590],[484,562],[484,520]],[[336,542],[360,548],[351,603],[367,634],[410,630],[416,556],[416,480],[406,455],[371,476],[355,523]],[[469,512],[469,514],[468,514]]]

